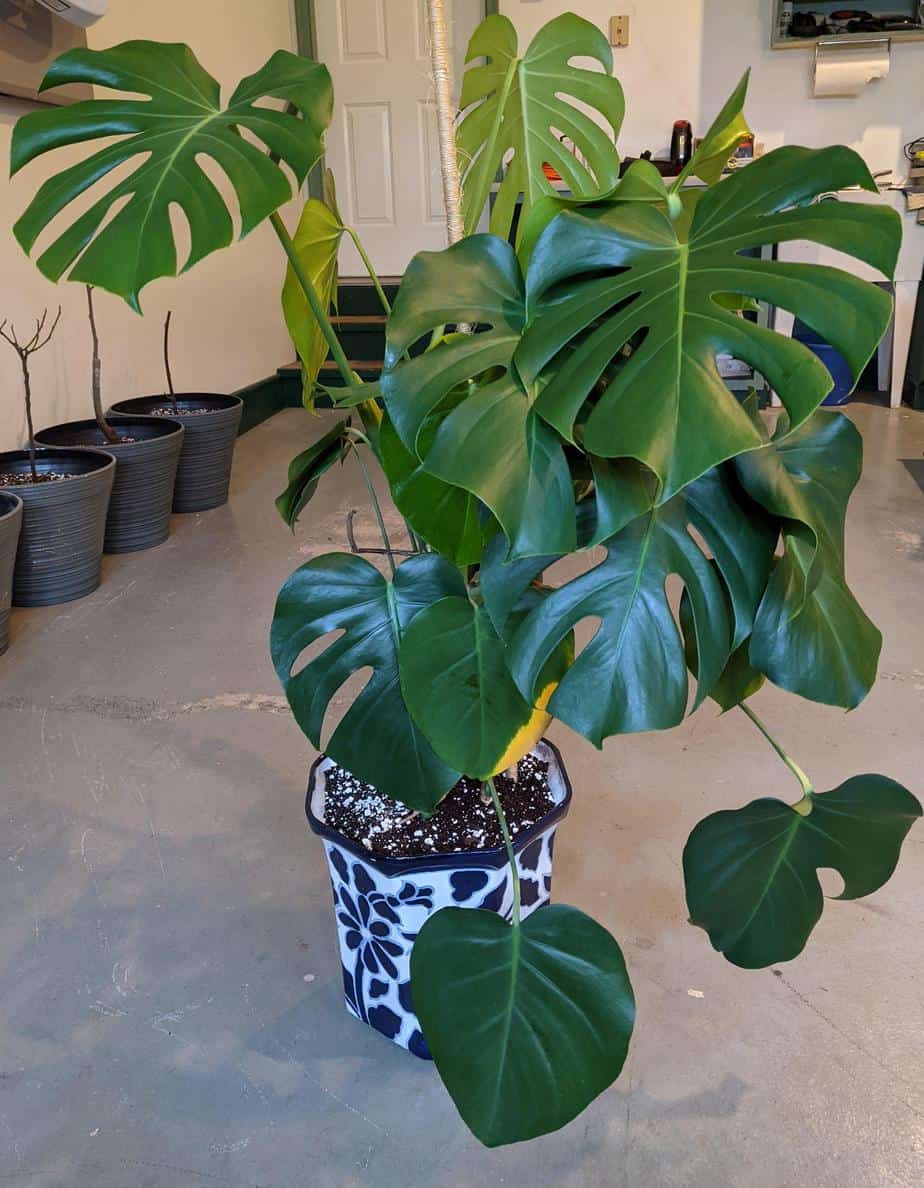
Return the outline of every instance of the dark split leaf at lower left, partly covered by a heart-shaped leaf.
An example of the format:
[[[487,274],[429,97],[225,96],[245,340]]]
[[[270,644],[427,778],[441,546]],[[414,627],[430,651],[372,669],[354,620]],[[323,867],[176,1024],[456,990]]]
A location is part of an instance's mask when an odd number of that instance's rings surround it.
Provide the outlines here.
[[[419,611],[462,593],[458,571],[435,554],[410,557],[391,582],[362,557],[327,554],[283,586],[270,634],[289,704],[315,747],[322,745],[324,716],[341,685],[372,669],[324,750],[360,779],[424,813],[432,811],[460,773],[435,754],[407,712],[398,649]],[[341,634],[299,668],[305,649],[333,632]]]

